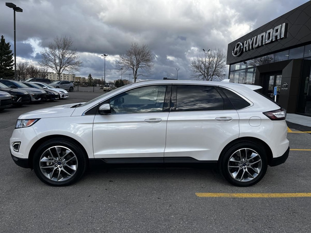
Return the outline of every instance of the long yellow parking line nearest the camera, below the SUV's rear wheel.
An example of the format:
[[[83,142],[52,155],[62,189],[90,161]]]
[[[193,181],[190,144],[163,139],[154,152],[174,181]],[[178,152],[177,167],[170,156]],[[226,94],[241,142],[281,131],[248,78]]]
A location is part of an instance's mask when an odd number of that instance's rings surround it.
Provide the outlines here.
[[[311,198],[311,193],[195,193],[199,198]]]

